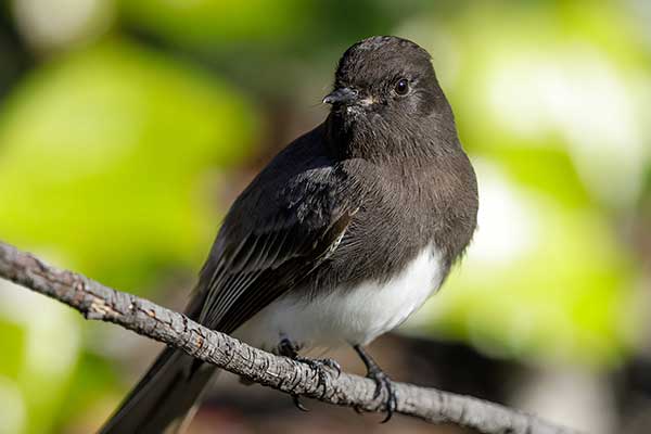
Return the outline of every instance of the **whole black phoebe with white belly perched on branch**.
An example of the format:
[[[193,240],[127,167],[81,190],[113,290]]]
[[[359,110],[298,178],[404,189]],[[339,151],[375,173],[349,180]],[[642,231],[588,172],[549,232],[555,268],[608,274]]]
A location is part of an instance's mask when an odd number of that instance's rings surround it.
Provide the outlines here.
[[[477,188],[430,54],[406,39],[350,47],[326,122],[281,151],[231,206],[187,314],[312,363],[297,352],[363,347],[434,293],[472,238]],[[165,349],[103,433],[180,423],[215,368]]]

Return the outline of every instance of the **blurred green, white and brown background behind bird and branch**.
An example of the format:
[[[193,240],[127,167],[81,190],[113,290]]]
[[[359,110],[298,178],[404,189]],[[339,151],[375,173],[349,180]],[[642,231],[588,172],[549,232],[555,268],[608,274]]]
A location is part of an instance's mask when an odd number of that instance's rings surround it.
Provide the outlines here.
[[[644,0],[0,2],[0,239],[182,308],[231,201],[378,34],[433,54],[481,213],[462,267],[373,354],[396,380],[650,432]],[[0,433],[93,432],[158,349],[0,281]],[[462,432],[218,383],[190,433]]]

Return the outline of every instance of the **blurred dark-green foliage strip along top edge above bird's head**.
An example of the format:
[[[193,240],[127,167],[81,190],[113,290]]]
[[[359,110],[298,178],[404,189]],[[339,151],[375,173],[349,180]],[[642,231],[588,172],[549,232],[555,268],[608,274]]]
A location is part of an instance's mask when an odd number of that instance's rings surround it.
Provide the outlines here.
[[[119,4],[127,24],[173,43],[210,52],[230,50],[228,46],[256,44],[264,50],[289,47],[295,56],[296,51],[318,55],[328,46],[349,44],[350,39],[368,33],[387,31],[426,2],[397,5],[388,0],[123,0]],[[317,41],[323,43],[315,47]]]

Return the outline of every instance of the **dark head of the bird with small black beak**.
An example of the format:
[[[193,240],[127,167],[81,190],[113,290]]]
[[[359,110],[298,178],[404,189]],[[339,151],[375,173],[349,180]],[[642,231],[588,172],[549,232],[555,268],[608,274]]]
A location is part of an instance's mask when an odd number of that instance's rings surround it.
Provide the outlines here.
[[[403,38],[376,36],[350,47],[339,62],[334,89],[323,103],[339,128],[416,128],[450,116],[430,54]]]

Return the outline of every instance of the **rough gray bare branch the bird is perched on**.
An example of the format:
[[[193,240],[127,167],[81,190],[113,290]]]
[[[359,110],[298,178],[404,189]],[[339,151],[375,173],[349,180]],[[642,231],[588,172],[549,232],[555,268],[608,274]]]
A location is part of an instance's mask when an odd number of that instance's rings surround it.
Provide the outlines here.
[[[382,411],[385,394],[373,399],[375,384],[358,375],[329,370],[324,384],[309,366],[248,346],[206,329],[184,315],[146,299],[115,291],[76,272],[0,241],[0,277],[58,299],[86,319],[119,324],[180,348],[189,355],[276,390],[323,403]],[[537,417],[470,396],[395,383],[397,412],[432,423],[454,423],[486,434],[565,434],[574,431]]]

